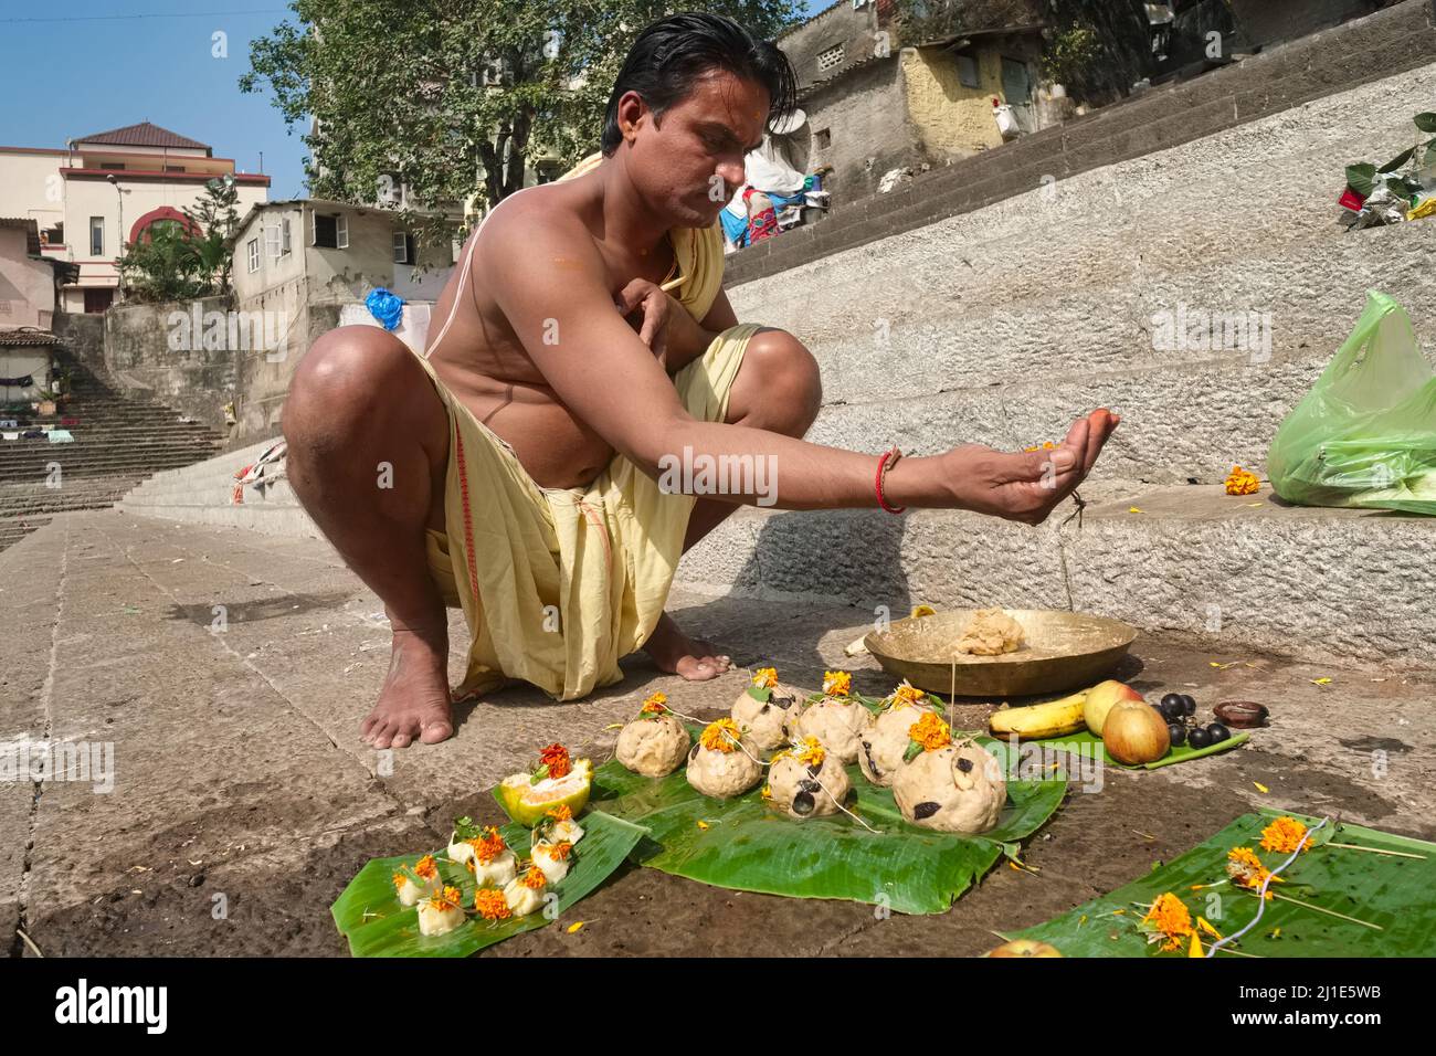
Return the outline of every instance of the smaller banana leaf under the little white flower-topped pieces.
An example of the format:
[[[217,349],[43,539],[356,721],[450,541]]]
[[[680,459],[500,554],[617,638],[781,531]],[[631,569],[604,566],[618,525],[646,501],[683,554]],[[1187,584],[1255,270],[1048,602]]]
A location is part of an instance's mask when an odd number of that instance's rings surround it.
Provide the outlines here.
[[[643,829],[600,810],[589,810],[580,819],[583,839],[573,849],[573,868],[550,891],[559,897],[557,912],[538,909],[527,917],[505,921],[485,921],[470,917],[447,935],[421,935],[419,911],[399,905],[393,891],[393,872],[401,865],[414,865],[422,855],[370,859],[349,882],[343,894],[329,908],[340,934],[349,940],[355,957],[468,957],[484,947],[501,942],[523,931],[533,931],[586,898],[629,856],[643,838]],[[530,830],[521,825],[500,829],[504,842],[520,858],[527,856]],[[464,892],[465,908],[474,905],[474,878],[468,869],[435,853],[439,876],[445,885]]]

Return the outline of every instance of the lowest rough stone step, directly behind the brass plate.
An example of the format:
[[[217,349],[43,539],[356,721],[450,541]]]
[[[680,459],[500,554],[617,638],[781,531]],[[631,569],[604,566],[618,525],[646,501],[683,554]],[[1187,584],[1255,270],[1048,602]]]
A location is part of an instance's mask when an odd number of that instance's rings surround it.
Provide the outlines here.
[[[880,606],[896,619],[919,602],[1099,612],[1185,635],[1219,662],[1267,649],[1430,664],[1436,519],[1291,507],[1269,491],[1211,486],[1133,488],[1088,506],[1080,526],[1063,526],[1066,516],[1031,529],[946,510],[744,507],[684,556],[675,582],[840,598],[875,619]]]

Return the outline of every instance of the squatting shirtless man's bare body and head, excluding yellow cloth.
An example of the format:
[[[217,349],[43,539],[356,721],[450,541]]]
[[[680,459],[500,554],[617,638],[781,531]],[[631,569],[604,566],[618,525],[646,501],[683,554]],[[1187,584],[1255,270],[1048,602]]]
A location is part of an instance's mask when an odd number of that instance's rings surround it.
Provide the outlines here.
[[[475,427],[465,441],[452,431],[455,414],[472,412],[541,488],[583,488],[617,457],[656,478],[665,455],[691,448],[695,458],[770,458],[781,467],[780,509],[880,504],[873,454],[801,440],[821,391],[794,336],[758,329],[745,339],[721,420],[695,418],[675,389],[673,375],[738,320],[721,289],[698,319],[659,289],[675,270],[671,233],[704,234],[717,223],[744,184],[744,155],[793,102],[787,59],[735,23],[678,14],[649,26],[616,80],[602,164],[520,191],[471,236],[434,313],[429,369],[369,326],[323,335],[299,365],[284,405],[289,478],[392,624],[389,674],[362,726],[369,744],[452,733],[445,601],[425,537],[445,526],[452,536],[462,523],[445,501],[447,474],[452,486],[454,438],[471,445]],[[1094,411],[1040,453],[966,445],[902,458],[883,499],[1035,524],[1083,480],[1116,424]],[[381,463],[392,466],[383,490]],[[682,547],[757,499],[696,499]],[[485,496],[464,501],[470,516]],[[728,657],[671,616],[653,619],[635,645],[661,670],[689,680],[728,670]]]

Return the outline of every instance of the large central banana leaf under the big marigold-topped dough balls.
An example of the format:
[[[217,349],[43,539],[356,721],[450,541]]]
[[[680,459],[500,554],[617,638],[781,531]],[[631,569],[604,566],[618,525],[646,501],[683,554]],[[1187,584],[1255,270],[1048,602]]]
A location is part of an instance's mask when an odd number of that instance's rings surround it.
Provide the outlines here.
[[[1004,764],[1011,761],[1005,744],[979,743]],[[760,789],[709,799],[688,784],[684,770],[652,779],[617,760],[595,772],[593,797],[605,812],[649,830],[652,840],[643,840],[635,858],[651,869],[734,891],[941,914],[1004,853],[1015,853],[1018,840],[1041,828],[1067,795],[1061,772],[1047,780],[1010,780],[998,826],[959,836],[909,825],[892,790],[869,784],[856,766],[847,776],[857,790],[849,809],[877,832],[846,815],[787,818],[763,802]]]

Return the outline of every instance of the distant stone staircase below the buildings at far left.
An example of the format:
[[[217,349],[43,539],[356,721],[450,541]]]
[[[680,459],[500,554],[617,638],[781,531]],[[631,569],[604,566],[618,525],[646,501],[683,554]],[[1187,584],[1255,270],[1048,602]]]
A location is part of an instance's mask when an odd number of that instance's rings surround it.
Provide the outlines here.
[[[0,550],[56,513],[113,506],[157,470],[210,458],[223,443],[205,425],[181,422],[172,408],[122,397],[85,365],[69,366],[73,395],[60,412],[20,420],[60,428],[62,418],[75,418],[66,427],[75,441],[0,441]]]

